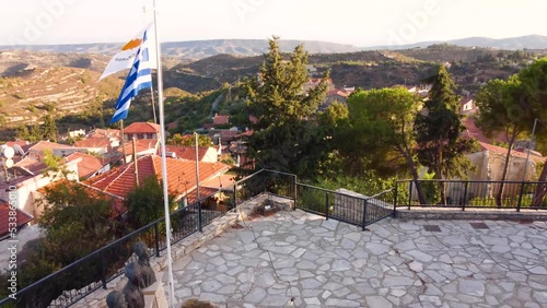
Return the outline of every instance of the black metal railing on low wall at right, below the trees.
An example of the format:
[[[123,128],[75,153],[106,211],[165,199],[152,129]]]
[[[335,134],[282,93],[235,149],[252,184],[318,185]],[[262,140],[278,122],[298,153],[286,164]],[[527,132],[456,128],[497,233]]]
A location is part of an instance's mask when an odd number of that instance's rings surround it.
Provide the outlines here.
[[[424,202],[420,202],[417,186]],[[547,210],[546,190],[547,182],[480,180],[400,180],[395,188],[396,208],[450,206],[463,211],[468,208]]]

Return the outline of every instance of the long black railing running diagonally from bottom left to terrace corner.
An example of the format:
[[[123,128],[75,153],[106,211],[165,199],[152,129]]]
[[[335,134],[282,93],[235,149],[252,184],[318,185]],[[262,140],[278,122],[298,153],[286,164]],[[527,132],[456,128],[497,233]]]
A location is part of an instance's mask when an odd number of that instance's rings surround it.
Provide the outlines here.
[[[236,181],[231,190],[219,191],[225,198],[213,198],[217,193],[200,198],[198,202],[171,214],[172,244],[201,230],[236,204],[263,192],[294,200],[295,183],[294,175],[260,170]],[[96,289],[106,288],[109,282],[123,275],[125,264],[131,261],[132,247],[137,241],[147,244],[152,257],[160,257],[160,252],[166,249],[165,220],[162,217],[150,223],[21,288],[15,294],[16,299],[8,297],[0,300],[0,308],[69,307]]]

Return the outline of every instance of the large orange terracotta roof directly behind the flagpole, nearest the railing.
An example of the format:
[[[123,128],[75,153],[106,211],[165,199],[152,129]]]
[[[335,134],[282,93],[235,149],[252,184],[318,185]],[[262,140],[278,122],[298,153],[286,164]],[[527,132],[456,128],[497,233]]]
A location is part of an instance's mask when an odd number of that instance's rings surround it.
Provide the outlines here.
[[[139,182],[154,175],[162,179],[161,157],[156,155],[143,156],[137,159]],[[212,176],[228,170],[229,166],[221,163],[198,163],[199,177],[207,180]],[[196,163],[167,157],[167,189],[171,193],[181,196],[196,188]],[[129,163],[119,168],[104,173],[85,181],[102,191],[125,198],[135,188],[135,164]]]

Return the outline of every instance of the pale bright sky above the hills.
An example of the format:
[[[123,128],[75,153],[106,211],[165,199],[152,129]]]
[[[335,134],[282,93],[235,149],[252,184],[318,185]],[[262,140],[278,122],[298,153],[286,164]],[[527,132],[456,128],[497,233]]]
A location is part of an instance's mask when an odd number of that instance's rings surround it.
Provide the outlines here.
[[[153,0],[0,0],[0,45],[124,43],[151,21]],[[547,36],[547,1],[156,0],[161,42],[325,40],[358,47]],[[143,8],[146,10],[143,10]]]

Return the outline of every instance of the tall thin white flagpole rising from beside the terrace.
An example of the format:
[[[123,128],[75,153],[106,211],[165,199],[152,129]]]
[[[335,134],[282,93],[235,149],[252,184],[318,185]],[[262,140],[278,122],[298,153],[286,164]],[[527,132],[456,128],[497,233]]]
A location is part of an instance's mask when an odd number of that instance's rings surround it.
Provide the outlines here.
[[[163,180],[163,205],[165,208],[165,238],[167,245],[167,272],[168,272],[168,295],[170,307],[175,305],[175,285],[173,283],[173,261],[171,258],[171,217],[170,217],[170,201],[167,193],[167,158],[165,157],[165,119],[163,111],[163,72],[162,72],[162,52],[160,37],[158,36],[158,5],[154,4],[154,31],[155,31],[155,59],[158,63],[158,104],[160,106],[160,129],[161,129],[161,151],[162,151],[162,180]]]

